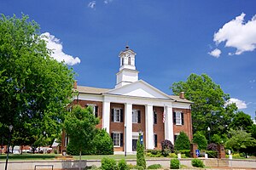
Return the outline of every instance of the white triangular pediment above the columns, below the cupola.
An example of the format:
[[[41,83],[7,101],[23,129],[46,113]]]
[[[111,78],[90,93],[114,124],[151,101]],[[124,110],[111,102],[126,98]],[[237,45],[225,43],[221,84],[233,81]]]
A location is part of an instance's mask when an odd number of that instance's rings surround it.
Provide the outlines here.
[[[167,94],[154,88],[147,82],[139,80],[125,86],[114,88],[106,92],[106,94],[125,95],[133,97],[154,98],[154,99],[171,99]]]

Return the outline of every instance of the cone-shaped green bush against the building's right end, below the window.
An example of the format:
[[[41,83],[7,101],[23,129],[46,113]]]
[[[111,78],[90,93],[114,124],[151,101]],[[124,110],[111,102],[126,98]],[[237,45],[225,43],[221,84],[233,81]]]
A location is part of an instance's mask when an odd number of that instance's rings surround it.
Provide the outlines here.
[[[189,137],[186,133],[181,132],[177,136],[177,139],[175,140],[174,144],[175,150],[189,150],[190,149],[190,141]]]

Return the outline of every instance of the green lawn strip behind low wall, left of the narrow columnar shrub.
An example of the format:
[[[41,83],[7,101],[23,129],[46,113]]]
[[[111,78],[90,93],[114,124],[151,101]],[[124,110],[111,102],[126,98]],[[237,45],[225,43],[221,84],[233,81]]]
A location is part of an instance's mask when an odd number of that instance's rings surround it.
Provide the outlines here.
[[[56,154],[9,154],[9,160],[54,160],[55,156],[61,156]],[[136,155],[131,156],[119,156],[119,155],[111,155],[111,156],[82,156],[83,160],[102,160],[103,157],[111,157],[114,159],[136,159]],[[0,155],[0,161],[4,161],[6,159],[6,154]],[[79,156],[73,156],[73,159],[79,160]]]

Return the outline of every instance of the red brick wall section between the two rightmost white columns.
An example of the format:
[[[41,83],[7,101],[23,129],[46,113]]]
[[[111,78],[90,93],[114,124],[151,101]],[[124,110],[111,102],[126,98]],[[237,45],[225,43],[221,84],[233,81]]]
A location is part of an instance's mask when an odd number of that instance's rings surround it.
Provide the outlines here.
[[[165,126],[163,123],[163,107],[153,107],[153,111],[157,113],[157,124],[154,124],[154,133],[157,134],[157,147],[154,149],[161,149],[161,142],[165,139]]]

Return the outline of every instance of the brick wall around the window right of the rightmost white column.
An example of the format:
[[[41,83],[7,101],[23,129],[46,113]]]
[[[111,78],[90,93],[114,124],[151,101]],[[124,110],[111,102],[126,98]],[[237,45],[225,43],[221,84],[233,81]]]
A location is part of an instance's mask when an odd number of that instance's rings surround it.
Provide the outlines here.
[[[180,132],[184,132],[188,135],[189,140],[191,141],[192,139],[192,121],[191,121],[191,112],[189,109],[178,109],[178,108],[172,108],[172,111],[182,111],[183,112],[183,116],[184,116],[184,124],[183,125],[175,125],[173,124],[173,135],[175,135],[175,133],[180,133]]]

